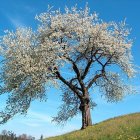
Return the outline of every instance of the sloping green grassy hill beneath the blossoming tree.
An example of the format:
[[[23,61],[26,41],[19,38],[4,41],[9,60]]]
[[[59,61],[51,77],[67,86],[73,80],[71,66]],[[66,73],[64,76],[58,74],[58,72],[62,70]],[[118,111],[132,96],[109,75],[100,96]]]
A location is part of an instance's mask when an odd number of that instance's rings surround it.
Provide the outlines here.
[[[140,113],[112,118],[85,130],[46,140],[140,140]]]

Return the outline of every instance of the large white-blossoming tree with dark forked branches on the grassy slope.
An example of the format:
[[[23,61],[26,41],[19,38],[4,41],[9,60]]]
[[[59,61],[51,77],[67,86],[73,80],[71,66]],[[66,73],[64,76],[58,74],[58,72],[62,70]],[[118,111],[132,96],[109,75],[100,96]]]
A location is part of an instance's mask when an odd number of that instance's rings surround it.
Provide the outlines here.
[[[135,73],[130,31],[125,22],[103,22],[87,6],[66,7],[64,13],[49,8],[36,18],[40,21],[36,32],[7,31],[1,40],[0,93],[9,93],[1,124],[17,113],[25,114],[31,101],[46,100],[47,86],[57,86],[63,104],[53,120],[64,123],[80,111],[84,129],[92,125],[92,87],[98,86],[108,102],[117,102],[130,91],[122,80],[123,74],[131,78]]]

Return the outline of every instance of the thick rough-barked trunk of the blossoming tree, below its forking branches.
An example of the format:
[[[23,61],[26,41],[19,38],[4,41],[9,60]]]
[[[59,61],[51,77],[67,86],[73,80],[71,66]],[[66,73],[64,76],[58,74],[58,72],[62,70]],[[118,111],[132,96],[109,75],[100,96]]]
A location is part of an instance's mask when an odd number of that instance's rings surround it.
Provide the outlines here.
[[[81,127],[81,129],[85,129],[87,126],[92,125],[89,102],[87,104],[81,103],[79,109],[82,112],[82,127]]]

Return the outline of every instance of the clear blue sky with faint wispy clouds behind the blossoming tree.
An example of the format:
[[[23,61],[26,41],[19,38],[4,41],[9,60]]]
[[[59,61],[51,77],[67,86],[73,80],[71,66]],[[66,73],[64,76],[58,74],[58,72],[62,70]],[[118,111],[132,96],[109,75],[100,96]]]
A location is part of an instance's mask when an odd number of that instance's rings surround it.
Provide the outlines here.
[[[119,22],[126,18],[128,25],[132,28],[130,38],[134,39],[132,48],[134,63],[140,66],[139,0],[0,0],[0,35],[3,35],[6,29],[15,30],[19,26],[30,26],[36,29],[38,22],[34,17],[36,14],[45,12],[48,4],[54,6],[54,9],[63,10],[66,5],[71,7],[77,4],[78,7],[84,7],[86,2],[88,2],[91,13],[96,11],[104,21]],[[140,91],[139,75],[130,83]],[[93,123],[123,114],[140,112],[140,94],[129,95],[123,101],[111,104],[98,96],[96,89],[94,92],[97,93],[93,95],[97,107],[92,111]],[[51,123],[51,116],[56,115],[57,108],[61,104],[59,95],[60,91],[51,89],[48,92],[47,102],[33,102],[26,117],[15,116],[7,124],[0,126],[0,131],[12,130],[16,134],[26,133],[39,138],[41,134],[48,137],[80,129],[80,115],[64,127]],[[5,96],[0,97],[0,109],[4,108],[5,98]]]

